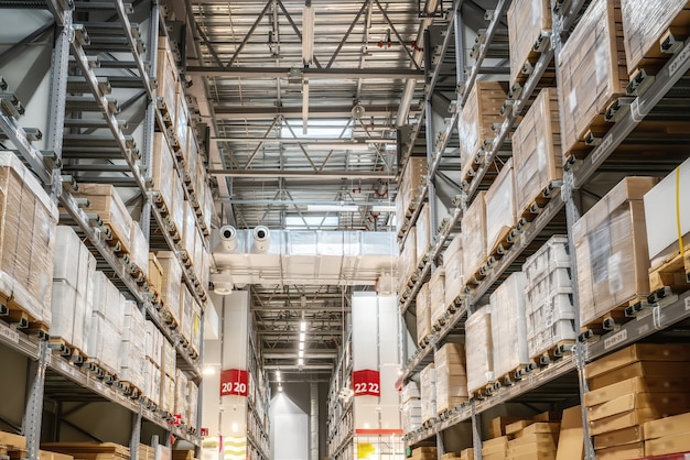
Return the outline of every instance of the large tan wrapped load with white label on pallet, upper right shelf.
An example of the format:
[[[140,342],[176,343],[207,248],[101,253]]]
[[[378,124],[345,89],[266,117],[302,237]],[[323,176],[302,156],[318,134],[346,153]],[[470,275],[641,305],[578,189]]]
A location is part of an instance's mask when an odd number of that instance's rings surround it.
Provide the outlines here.
[[[558,59],[561,99],[561,145],[571,156],[590,136],[608,131],[604,113],[625,96],[625,68],[619,0],[595,0],[563,45]]]

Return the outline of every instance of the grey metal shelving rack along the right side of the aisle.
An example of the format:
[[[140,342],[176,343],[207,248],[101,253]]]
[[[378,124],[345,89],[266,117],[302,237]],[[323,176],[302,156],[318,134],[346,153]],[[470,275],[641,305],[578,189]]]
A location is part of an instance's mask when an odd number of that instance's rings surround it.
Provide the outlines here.
[[[457,123],[457,113],[460,113],[472,85],[474,85],[483,73],[490,73],[490,70],[487,72],[487,69],[483,67],[483,62],[487,50],[492,46],[499,23],[505,18],[509,3],[510,1],[499,0],[495,10],[487,12],[486,19],[489,20],[489,23],[486,30],[482,31],[477,36],[473,50],[475,62],[467,72],[465,72],[464,53],[446,56],[448,39],[450,35],[454,35],[456,50],[465,50],[463,45],[464,34],[462,31],[464,31],[464,26],[461,17],[461,1],[453,2],[452,9],[449,11],[444,35],[446,41],[444,41],[443,46],[435,47],[434,50],[434,52],[441,54],[441,57],[431,56],[431,46],[428,46],[425,50],[428,54],[428,65],[425,67],[428,83],[425,87],[427,103],[422,112],[423,119],[420,120],[418,127],[412,129],[412,134],[416,136],[424,132],[427,135],[429,176],[427,185],[421,190],[418,190],[417,196],[412,199],[412,209],[408,210],[409,218],[406,218],[402,223],[402,229],[398,233],[400,243],[408,237],[409,229],[414,224],[424,201],[428,201],[430,206],[432,206],[433,215],[433,205],[435,201],[433,186],[434,175],[444,156],[456,154],[456,151],[449,147],[449,145],[452,143],[451,134],[456,135],[453,129]],[[569,31],[586,8],[586,3],[587,2],[584,0],[552,1],[553,33],[551,35],[551,43],[541,52],[527,81],[521,87],[510,88],[508,100],[504,106],[503,114],[506,116],[506,119],[499,127],[490,145],[484,149],[483,158],[479,158],[481,164],[477,174],[470,184],[462,184],[462,187],[459,187],[457,197],[453,202],[454,206],[448,210],[448,216],[441,221],[439,228],[435,229],[432,244],[424,255],[423,263],[417,267],[412,275],[411,283],[407,286],[408,288],[399,293],[400,314],[403,320],[406,314],[413,305],[414,297],[420,287],[429,280],[429,273],[434,269],[435,262],[439,258],[442,258],[445,241],[457,231],[457,223],[468,202],[472,201],[479,189],[487,188],[486,174],[488,165],[502,154],[504,144],[508,142],[509,133],[518,122],[518,117],[524,113],[527,106],[530,103],[545,72],[553,66],[553,59],[558,63],[558,54],[562,41],[568,39]],[[454,31],[454,34],[451,34],[451,31]],[[450,61],[453,57],[456,61],[457,105],[453,111],[450,130],[443,131],[443,129],[438,129],[432,120],[430,120],[433,113],[432,101],[435,90],[434,85],[438,80],[436,73],[441,67],[434,67],[433,63],[443,62],[444,59]],[[429,65],[430,63],[432,65]],[[608,132],[604,134],[602,139],[594,140],[593,149],[586,156],[583,158],[572,158],[569,164],[564,165],[565,171],[561,188],[554,188],[551,191],[549,202],[539,210],[539,213],[531,222],[526,222],[527,224],[516,229],[519,233],[517,243],[510,247],[496,263],[492,266],[487,266],[486,276],[481,280],[477,285],[473,286],[470,292],[459,296],[452,305],[448,306],[439,324],[432,325],[432,333],[429,340],[411,353],[411,358],[402,370],[399,383],[407,382],[414,377],[427,364],[433,361],[434,349],[442,344],[450,335],[462,331],[463,321],[467,313],[472,311],[474,305],[500,282],[505,273],[516,266],[517,261],[524,260],[526,253],[533,251],[532,243],[535,241],[541,240],[545,233],[564,233],[567,229],[571,228],[572,222],[581,216],[580,207],[576,206],[575,195],[580,189],[594,180],[602,165],[604,165],[622,143],[629,139],[630,133],[634,132],[635,128],[645,117],[655,117],[657,116],[657,111],[660,112],[658,117],[664,116],[664,109],[666,108],[665,97],[670,96],[672,98],[673,92],[681,97],[687,94],[688,83],[684,74],[689,69],[690,41],[687,41],[675,55],[669,57],[668,63],[656,76],[645,76],[645,80],[635,81],[637,86],[629,88],[630,94],[628,97],[618,101],[617,112],[612,117],[612,128]],[[613,122],[614,120],[615,122]],[[422,125],[424,130],[422,130]],[[442,141],[434,145],[430,140],[436,139],[439,132],[442,132]],[[414,139],[410,143],[410,149],[403,156],[411,154]],[[678,163],[680,163],[680,161],[678,161]],[[668,173],[671,169],[671,164],[662,165],[658,173]],[[567,220],[567,226],[563,220]],[[434,229],[434,219],[432,218],[431,221],[432,229]],[[438,221],[436,219],[436,222]],[[569,239],[572,244],[572,237]],[[573,252],[571,251],[571,253]],[[440,458],[443,453],[443,438],[441,432],[462,421],[471,421],[473,428],[474,454],[475,458],[481,459],[481,414],[505,403],[520,402],[525,396],[538,394],[539,392],[563,392],[563,388],[565,388],[563,399],[572,396],[582,397],[586,388],[582,372],[585,362],[590,362],[616,349],[635,343],[647,336],[690,318],[689,294],[690,293],[675,295],[662,291],[657,293],[656,296],[650,296],[647,304],[636,309],[628,309],[628,316],[633,318],[630,321],[624,322],[623,325],[613,325],[612,330],[605,331],[594,338],[581,337],[580,341],[575,343],[572,349],[561,350],[563,354],[560,359],[557,357],[554,361],[545,363],[541,368],[537,368],[528,377],[514,381],[509,386],[497,388],[494,394],[471,399],[442,414],[432,423],[422,426],[420,429],[406,434],[406,445],[409,447],[422,442],[428,445],[428,442],[435,437]],[[574,404],[574,402],[571,401],[571,404]],[[584,426],[586,429],[586,424],[584,424]],[[587,431],[585,431],[585,439],[586,456],[587,458],[594,458],[594,450]]]

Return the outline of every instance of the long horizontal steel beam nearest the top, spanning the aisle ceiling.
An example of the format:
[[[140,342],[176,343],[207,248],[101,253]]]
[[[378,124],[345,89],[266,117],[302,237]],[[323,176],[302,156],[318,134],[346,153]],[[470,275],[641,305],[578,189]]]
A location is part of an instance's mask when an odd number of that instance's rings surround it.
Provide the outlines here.
[[[233,78],[310,78],[310,79],[342,79],[342,78],[377,78],[377,79],[407,79],[422,78],[423,70],[410,68],[298,68],[293,75],[290,67],[203,67],[188,66],[186,75],[202,77],[233,77]]]

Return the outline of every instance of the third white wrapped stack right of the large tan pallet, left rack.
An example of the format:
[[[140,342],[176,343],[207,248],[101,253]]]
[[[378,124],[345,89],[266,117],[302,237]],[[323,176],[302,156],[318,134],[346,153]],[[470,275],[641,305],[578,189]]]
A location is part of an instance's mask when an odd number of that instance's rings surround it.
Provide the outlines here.
[[[120,344],[119,377],[130,391],[143,392],[145,386],[144,362],[147,354],[147,319],[136,303],[125,303],[125,324]]]

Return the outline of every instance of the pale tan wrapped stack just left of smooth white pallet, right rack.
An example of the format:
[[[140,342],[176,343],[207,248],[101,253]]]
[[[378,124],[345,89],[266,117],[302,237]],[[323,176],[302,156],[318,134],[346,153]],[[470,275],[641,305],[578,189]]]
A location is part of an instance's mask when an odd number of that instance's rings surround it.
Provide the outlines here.
[[[463,278],[465,284],[474,283],[475,274],[486,259],[486,207],[479,191],[463,215],[462,248],[463,248]]]

